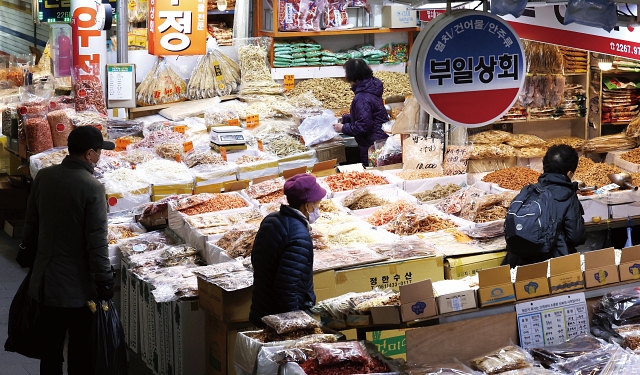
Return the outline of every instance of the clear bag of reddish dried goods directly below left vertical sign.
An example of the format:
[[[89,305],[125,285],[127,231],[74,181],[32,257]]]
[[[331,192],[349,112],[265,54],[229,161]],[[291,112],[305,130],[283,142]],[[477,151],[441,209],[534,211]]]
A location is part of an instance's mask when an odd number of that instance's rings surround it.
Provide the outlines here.
[[[88,72],[75,67],[71,73],[76,111],[96,111],[106,116],[107,103],[100,81],[100,66],[92,64],[89,66]]]

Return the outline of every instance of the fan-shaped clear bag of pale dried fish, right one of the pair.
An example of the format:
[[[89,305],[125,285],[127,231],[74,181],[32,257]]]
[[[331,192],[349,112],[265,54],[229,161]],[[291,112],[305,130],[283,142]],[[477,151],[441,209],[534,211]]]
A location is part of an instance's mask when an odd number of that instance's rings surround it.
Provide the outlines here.
[[[240,67],[217,48],[215,39],[207,41],[207,54],[200,57],[189,79],[187,98],[205,99],[237,91]]]

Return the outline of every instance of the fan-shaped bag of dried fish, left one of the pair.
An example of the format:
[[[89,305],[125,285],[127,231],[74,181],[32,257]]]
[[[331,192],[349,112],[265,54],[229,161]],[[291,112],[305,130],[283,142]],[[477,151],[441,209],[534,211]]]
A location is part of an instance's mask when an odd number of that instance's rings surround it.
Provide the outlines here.
[[[162,57],[136,89],[140,106],[175,103],[186,100],[187,84]]]

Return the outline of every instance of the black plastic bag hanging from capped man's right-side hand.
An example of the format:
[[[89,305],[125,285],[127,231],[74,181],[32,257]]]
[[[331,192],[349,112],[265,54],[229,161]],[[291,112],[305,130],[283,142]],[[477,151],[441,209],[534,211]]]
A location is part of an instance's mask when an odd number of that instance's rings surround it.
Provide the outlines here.
[[[94,375],[126,375],[129,367],[127,345],[120,317],[113,301],[93,304],[91,355]]]

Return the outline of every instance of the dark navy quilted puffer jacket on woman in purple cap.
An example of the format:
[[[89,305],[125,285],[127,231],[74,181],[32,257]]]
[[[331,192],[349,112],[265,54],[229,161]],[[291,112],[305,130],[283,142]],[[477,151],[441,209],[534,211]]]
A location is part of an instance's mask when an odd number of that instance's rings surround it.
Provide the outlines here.
[[[253,295],[249,320],[304,310],[316,302],[313,291],[313,242],[309,222],[287,205],[262,220],[251,252]]]

